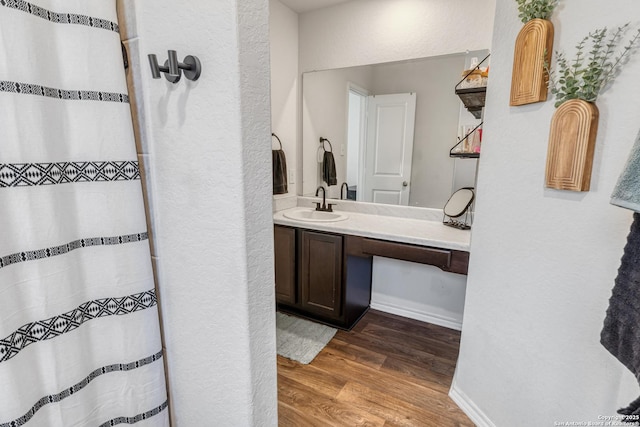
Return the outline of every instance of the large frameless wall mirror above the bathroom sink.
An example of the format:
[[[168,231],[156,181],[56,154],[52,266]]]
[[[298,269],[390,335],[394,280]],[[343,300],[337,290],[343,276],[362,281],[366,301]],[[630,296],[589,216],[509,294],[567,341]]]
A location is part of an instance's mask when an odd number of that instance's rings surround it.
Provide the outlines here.
[[[464,109],[454,87],[471,58],[486,53],[304,73],[302,195],[313,196],[324,185],[329,198],[348,194],[358,201],[442,209],[455,190],[473,187],[477,160],[451,158],[449,150],[461,128],[480,121]],[[384,137],[398,148],[379,143]],[[329,145],[321,138],[331,142],[336,185],[322,178]],[[373,176],[395,187],[370,184]]]

